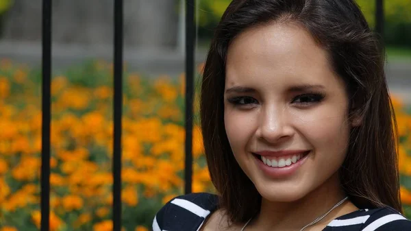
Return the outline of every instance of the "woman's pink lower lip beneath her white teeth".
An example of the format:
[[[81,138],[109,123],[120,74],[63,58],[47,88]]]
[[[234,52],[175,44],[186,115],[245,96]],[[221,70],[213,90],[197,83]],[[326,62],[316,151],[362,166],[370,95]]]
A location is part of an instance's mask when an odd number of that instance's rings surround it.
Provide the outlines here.
[[[310,152],[308,152],[308,154],[306,154],[303,158],[295,162],[295,164],[282,167],[282,168],[279,168],[279,167],[273,168],[273,167],[269,167],[268,165],[264,165],[264,162],[262,162],[260,156],[256,156],[256,161],[257,161],[258,167],[260,167],[260,169],[269,177],[286,178],[292,175],[293,173],[295,173],[295,171],[297,171],[297,169],[299,169],[299,167],[301,167],[301,165],[303,165],[303,163],[306,162],[308,156],[310,156]]]

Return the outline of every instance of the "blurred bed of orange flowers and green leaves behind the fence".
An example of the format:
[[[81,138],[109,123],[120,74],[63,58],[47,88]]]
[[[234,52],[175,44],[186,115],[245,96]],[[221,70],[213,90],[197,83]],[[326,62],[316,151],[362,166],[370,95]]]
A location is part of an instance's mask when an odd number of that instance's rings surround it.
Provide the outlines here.
[[[88,62],[52,81],[51,230],[112,230],[112,66]],[[0,61],[0,230],[40,226],[40,71]],[[184,188],[184,76],[125,75],[123,227],[149,230]],[[196,88],[198,88],[196,84]],[[395,100],[401,194],[411,204],[411,116]],[[213,191],[201,146],[198,100],[193,191]],[[409,216],[411,213],[408,214]]]

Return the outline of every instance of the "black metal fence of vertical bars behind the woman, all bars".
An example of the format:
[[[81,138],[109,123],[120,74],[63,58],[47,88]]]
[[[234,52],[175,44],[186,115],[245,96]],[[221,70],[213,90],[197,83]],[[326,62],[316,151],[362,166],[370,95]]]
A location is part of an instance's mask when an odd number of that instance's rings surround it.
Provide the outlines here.
[[[51,132],[51,0],[42,1],[42,156],[41,231],[49,231],[50,132]],[[192,188],[192,100],[195,64],[195,0],[186,0],[186,111],[185,185]],[[383,0],[376,0],[376,31],[384,32]],[[121,230],[121,117],[123,106],[123,0],[114,0],[114,145],[113,145],[113,230]]]

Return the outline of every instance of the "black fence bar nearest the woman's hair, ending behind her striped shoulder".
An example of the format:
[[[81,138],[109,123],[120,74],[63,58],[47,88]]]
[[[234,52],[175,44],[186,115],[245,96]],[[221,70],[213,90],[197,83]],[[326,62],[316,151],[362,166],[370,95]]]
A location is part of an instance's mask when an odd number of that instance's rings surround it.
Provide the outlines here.
[[[184,173],[184,193],[192,189],[192,99],[194,88],[194,48],[195,48],[195,0],[186,0],[186,162]]]

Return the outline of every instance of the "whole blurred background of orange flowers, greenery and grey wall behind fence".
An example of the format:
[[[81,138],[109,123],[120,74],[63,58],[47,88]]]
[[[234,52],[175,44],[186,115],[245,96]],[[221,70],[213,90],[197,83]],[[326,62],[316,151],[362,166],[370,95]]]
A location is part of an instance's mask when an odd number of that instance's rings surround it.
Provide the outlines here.
[[[197,0],[195,81],[229,0]],[[151,230],[184,193],[185,1],[124,0],[123,216]],[[358,0],[371,27],[375,1]],[[0,231],[40,227],[41,1],[0,0]],[[386,73],[411,218],[411,1],[384,1]],[[54,0],[51,230],[112,230],[113,1]],[[193,191],[213,192],[195,100]],[[377,179],[376,179],[377,180]]]

